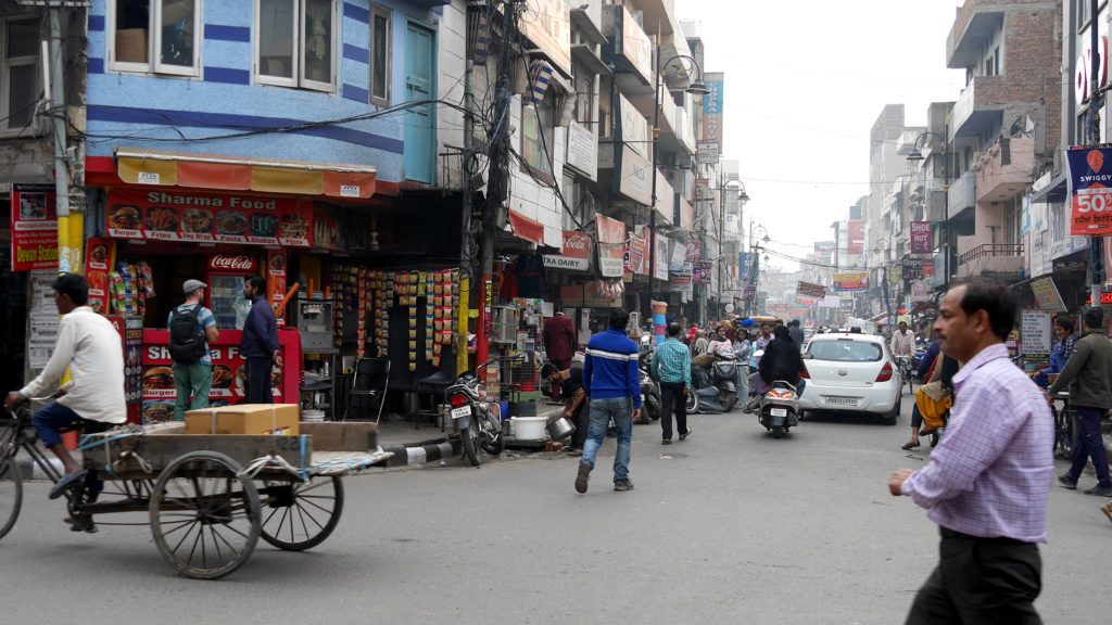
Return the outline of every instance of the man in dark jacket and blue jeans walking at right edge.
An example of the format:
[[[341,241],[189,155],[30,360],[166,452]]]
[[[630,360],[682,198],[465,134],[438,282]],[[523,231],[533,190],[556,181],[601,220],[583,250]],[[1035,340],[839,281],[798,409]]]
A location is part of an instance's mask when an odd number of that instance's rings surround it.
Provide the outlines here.
[[[1112,478],[1109,477],[1109,458],[1101,437],[1101,419],[1112,408],[1112,343],[1101,329],[1104,311],[1100,308],[1085,310],[1082,317],[1081,336],[1073,346],[1073,354],[1066,360],[1062,373],[1046,389],[1046,400],[1070,387],[1070,405],[1078,410],[1078,445],[1073,446],[1073,465],[1059,476],[1062,486],[1074,489],[1081,472],[1091,459],[1096,469],[1096,486],[1085,490],[1085,495],[1112,497]]]

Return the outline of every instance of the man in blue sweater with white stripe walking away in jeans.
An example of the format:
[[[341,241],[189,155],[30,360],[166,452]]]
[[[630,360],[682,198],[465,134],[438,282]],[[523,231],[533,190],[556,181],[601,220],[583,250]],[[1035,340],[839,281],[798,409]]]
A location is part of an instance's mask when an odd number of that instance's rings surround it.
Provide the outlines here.
[[[590,425],[583,459],[575,477],[575,489],[587,492],[595,456],[606,437],[609,421],[618,430],[618,449],[614,455],[614,489],[633,490],[629,479],[629,447],[633,442],[633,421],[641,417],[641,374],[637,371],[637,344],[625,335],[629,314],[610,311],[610,327],[590,337],[587,357],[583,363],[583,386],[590,406]]]

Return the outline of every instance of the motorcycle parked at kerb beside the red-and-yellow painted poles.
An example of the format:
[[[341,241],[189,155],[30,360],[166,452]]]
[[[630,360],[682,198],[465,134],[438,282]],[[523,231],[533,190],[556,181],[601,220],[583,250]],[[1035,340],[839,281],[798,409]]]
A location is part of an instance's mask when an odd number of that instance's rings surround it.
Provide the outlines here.
[[[447,390],[451,420],[459,433],[464,455],[476,467],[483,462],[483,452],[497,456],[506,448],[497,401],[488,400],[486,387],[476,375],[492,363],[495,360],[479,365],[474,371],[464,371]]]

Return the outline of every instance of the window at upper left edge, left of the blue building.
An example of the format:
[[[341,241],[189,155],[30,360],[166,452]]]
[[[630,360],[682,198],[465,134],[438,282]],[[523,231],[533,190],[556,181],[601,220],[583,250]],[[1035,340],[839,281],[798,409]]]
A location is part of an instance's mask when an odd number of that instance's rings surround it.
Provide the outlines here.
[[[0,135],[30,135],[39,85],[39,19],[0,19]]]

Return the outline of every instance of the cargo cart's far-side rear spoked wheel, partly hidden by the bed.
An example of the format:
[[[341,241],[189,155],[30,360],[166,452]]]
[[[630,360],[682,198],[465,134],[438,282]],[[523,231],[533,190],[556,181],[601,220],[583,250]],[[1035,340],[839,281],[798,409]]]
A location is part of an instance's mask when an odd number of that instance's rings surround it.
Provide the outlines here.
[[[316,547],[336,529],[344,512],[344,483],[338,476],[308,482],[266,482],[259,494],[262,539],[279,549]]]

